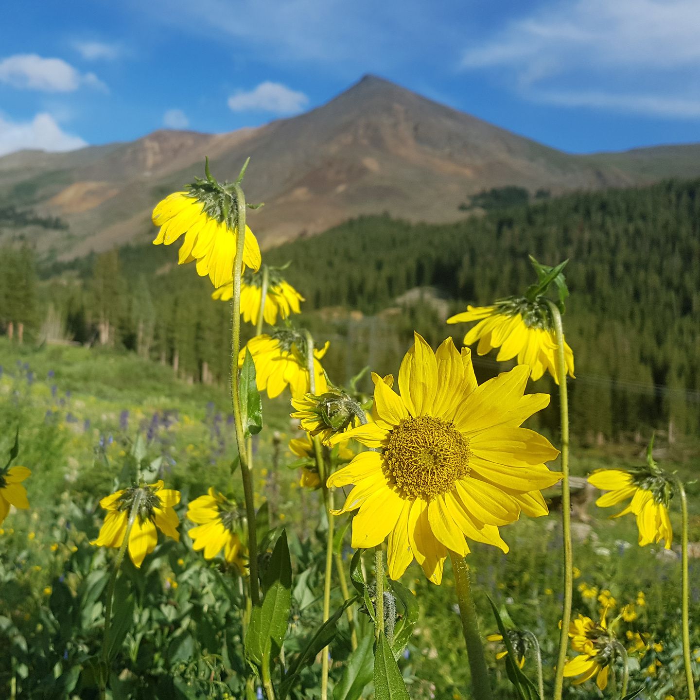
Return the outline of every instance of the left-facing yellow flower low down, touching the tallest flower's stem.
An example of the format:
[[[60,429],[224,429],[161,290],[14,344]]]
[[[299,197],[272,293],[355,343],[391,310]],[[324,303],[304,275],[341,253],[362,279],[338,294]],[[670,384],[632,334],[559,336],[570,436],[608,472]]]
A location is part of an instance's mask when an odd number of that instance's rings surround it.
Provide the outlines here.
[[[199,525],[188,532],[195,552],[204,549],[204,559],[214,559],[223,549],[226,561],[235,563],[241,573],[244,572],[245,562],[241,555],[247,550],[236,531],[240,519],[236,503],[223,493],[215,493],[212,486],[207,496],[195,498],[188,505],[187,517]]]

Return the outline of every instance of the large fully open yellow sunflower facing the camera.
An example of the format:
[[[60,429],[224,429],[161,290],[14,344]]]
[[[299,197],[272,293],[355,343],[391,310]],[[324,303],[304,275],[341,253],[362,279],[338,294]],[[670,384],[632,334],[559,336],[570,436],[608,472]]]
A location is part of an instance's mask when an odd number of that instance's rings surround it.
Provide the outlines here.
[[[465,536],[507,552],[498,526],[521,511],[547,514],[539,489],[561,479],[545,464],[559,450],[519,427],[549,403],[547,394],[523,395],[528,374],[515,367],[477,386],[469,349],[460,355],[448,338],[433,353],[417,333],[401,363],[400,396],[372,374],[376,420],[330,440],[381,450],[361,452],[328,479],[355,484],[336,511],[360,509],[352,546],[374,547],[388,535],[394,580],[415,557],[439,584],[447,550],[469,552]]]

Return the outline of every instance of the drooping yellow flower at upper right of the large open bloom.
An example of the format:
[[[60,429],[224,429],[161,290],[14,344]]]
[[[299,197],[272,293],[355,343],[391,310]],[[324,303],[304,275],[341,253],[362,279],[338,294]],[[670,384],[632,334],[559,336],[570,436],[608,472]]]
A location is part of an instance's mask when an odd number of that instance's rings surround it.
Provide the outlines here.
[[[479,321],[464,336],[464,344],[471,345],[477,340],[477,353],[486,355],[493,348],[500,347],[496,360],[499,362],[518,358],[519,365],[528,365],[533,381],[542,377],[549,370],[554,381],[559,384],[559,374],[556,371],[556,343],[554,330],[547,328],[546,322],[539,317],[524,318],[519,313],[513,313],[508,307],[498,304],[489,307],[468,306],[462,314],[456,314],[447,319],[447,323],[464,323]],[[573,351],[564,341],[564,358],[566,370],[573,377]]]

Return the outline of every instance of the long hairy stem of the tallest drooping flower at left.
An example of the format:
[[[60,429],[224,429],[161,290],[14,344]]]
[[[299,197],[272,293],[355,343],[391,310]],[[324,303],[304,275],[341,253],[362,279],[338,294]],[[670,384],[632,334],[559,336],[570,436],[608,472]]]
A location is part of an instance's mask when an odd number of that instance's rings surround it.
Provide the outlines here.
[[[246,197],[239,184],[235,185],[236,202],[238,207],[238,235],[236,239],[236,258],[233,263],[233,324],[231,329],[231,403],[236,425],[236,442],[241,463],[241,479],[243,493],[246,499],[246,515],[248,519],[248,567],[251,577],[251,601],[258,605],[258,538],[255,527],[255,503],[253,503],[253,483],[251,470],[248,468],[248,454],[241,418],[241,398],[238,385],[238,353],[241,349],[241,266],[243,265],[243,249],[246,242]]]

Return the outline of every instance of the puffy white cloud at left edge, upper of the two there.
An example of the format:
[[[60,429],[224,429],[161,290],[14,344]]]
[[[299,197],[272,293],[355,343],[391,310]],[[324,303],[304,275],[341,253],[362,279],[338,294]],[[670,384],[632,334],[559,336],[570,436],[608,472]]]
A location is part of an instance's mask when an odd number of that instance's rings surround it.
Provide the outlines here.
[[[81,76],[64,60],[42,58],[35,53],[17,54],[0,61],[0,83],[42,92],[73,92],[83,84],[107,89],[94,73]]]

